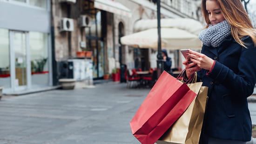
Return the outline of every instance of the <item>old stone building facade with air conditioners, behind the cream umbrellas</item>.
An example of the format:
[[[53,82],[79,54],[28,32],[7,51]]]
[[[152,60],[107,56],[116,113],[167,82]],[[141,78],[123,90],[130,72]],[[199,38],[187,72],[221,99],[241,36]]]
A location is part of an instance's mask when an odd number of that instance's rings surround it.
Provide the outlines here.
[[[197,20],[199,5],[196,0],[161,0],[161,17]],[[93,79],[102,79],[121,65],[143,70],[156,67],[155,50],[124,46],[120,41],[122,36],[134,33],[136,21],[156,19],[156,14],[152,0],[52,0],[54,84],[63,72],[60,62],[78,59],[77,52],[81,51],[92,52],[89,59]],[[71,29],[62,28],[63,19],[70,20]],[[84,20],[87,21],[81,25]],[[169,51],[173,58],[175,53],[178,52]]]

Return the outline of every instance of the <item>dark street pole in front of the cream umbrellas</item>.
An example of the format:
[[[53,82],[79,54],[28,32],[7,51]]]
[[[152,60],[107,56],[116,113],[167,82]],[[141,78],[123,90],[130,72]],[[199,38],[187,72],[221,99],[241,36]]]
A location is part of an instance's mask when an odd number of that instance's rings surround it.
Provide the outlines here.
[[[160,0],[157,0],[157,33],[158,33],[158,53],[157,53],[157,78],[160,77],[163,72],[163,57],[161,50],[161,17],[160,17]]]

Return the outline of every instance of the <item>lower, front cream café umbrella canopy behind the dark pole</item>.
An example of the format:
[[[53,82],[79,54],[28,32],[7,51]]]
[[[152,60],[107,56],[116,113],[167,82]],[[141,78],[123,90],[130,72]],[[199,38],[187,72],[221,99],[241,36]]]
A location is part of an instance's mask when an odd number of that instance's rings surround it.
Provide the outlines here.
[[[161,28],[162,48],[179,49],[201,49],[202,42],[197,35],[188,33],[178,28]],[[158,47],[157,28],[148,29],[121,37],[121,44],[140,48]]]

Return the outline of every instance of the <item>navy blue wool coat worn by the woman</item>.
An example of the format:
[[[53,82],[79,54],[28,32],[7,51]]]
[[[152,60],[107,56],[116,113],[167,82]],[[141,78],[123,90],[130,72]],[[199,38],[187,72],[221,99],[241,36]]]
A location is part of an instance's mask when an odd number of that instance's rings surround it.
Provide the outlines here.
[[[256,83],[256,47],[249,36],[243,41],[247,48],[231,36],[217,48],[202,46],[202,53],[216,60],[209,75],[204,69],[198,72],[203,85],[209,87],[202,130],[209,137],[238,141],[251,139],[247,97],[253,93]]]

